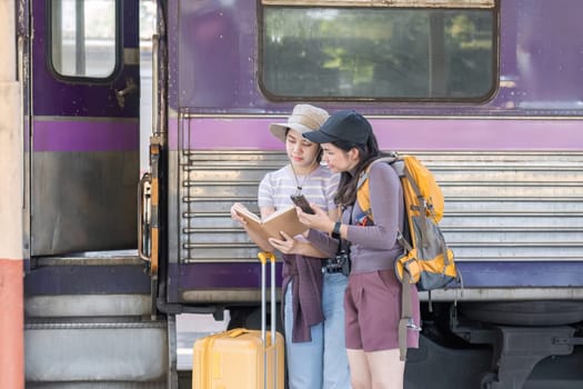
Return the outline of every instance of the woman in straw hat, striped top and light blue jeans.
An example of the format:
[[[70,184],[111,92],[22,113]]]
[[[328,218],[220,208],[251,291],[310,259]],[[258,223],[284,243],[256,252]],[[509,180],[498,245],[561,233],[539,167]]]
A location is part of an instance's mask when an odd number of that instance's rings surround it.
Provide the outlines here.
[[[265,174],[259,186],[261,217],[292,206],[291,194],[303,194],[332,218],[339,176],[320,164],[319,144],[302,137],[315,131],[329,114],[310,104],[298,104],[285,123],[273,123],[271,132],[285,143],[289,163]],[[240,203],[234,207],[241,207]],[[231,209],[233,219],[244,221]],[[250,238],[265,251],[278,250],[283,258],[283,317],[290,389],[350,388],[344,345],[343,296],[346,276],[326,265],[325,255],[302,236],[269,241]]]

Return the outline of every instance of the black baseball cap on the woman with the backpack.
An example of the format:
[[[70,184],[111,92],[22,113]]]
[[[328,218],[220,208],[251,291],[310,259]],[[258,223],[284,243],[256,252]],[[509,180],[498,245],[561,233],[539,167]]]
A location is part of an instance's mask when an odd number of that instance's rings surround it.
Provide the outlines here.
[[[372,133],[371,123],[354,110],[338,111],[328,118],[318,131],[303,133],[314,143],[332,143],[336,140],[366,144]]]

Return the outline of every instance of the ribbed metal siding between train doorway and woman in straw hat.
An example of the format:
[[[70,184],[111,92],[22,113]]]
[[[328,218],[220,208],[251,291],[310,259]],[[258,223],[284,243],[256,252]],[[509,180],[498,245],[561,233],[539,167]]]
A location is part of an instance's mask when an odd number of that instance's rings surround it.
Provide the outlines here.
[[[287,162],[281,152],[182,151],[180,260],[254,260],[257,247],[231,220],[233,202],[259,213],[257,194],[265,172]]]

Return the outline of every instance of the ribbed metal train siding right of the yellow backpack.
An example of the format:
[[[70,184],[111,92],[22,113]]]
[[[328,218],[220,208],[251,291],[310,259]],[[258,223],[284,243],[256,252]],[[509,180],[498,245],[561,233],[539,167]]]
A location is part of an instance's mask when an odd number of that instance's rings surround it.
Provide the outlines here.
[[[582,153],[419,157],[443,189],[458,260],[583,259]]]

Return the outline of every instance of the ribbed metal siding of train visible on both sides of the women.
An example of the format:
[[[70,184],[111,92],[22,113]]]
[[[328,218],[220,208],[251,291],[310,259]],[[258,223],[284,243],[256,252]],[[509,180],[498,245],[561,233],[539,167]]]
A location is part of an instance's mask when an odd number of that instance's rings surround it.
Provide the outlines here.
[[[583,260],[583,153],[415,152],[445,196],[444,235],[459,261]],[[181,260],[249,260],[255,248],[230,218],[257,207],[282,152],[183,151]]]

